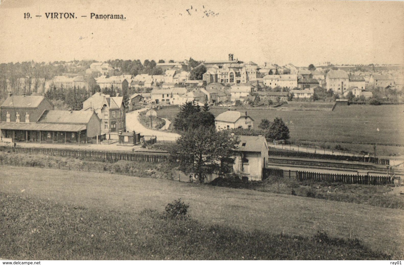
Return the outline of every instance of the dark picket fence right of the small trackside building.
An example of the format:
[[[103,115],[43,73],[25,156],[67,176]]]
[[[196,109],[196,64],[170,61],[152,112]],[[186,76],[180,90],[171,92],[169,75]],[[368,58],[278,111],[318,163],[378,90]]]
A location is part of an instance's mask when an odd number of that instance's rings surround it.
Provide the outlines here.
[[[312,180],[324,182],[342,182],[345,184],[370,184],[370,185],[386,185],[393,184],[394,177],[389,176],[359,176],[346,174],[331,174],[307,171],[282,170],[279,168],[265,168],[263,179],[273,177],[289,177],[296,178],[298,181]]]

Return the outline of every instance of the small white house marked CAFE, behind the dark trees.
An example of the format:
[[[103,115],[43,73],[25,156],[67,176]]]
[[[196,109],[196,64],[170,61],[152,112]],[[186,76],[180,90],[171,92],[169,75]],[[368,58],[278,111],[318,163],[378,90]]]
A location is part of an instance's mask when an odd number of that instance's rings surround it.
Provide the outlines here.
[[[252,129],[254,120],[240,111],[225,111],[215,118],[216,130],[227,130],[235,128]]]

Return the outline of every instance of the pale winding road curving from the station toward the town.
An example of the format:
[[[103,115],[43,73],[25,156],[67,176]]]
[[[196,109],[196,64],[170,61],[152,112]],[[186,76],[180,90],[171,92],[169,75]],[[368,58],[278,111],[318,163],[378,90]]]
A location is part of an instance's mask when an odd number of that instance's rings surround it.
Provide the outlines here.
[[[161,130],[151,130],[143,126],[138,119],[139,113],[149,108],[137,109],[126,113],[126,130],[140,132],[141,135],[155,135],[157,141],[175,141],[180,135],[175,132],[164,132]]]

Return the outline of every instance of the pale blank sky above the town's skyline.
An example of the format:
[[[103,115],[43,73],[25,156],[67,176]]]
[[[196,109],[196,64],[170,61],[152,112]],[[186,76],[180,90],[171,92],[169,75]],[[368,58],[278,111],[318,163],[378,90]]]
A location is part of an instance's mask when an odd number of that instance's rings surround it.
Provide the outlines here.
[[[77,18],[46,19],[50,12]],[[227,60],[229,53],[259,64],[403,64],[404,2],[0,0],[0,63]]]

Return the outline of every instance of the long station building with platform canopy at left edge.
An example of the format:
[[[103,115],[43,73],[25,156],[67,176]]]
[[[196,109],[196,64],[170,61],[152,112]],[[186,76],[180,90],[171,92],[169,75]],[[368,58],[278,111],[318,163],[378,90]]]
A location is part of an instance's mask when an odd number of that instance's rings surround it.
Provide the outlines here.
[[[95,143],[100,129],[94,111],[54,110],[44,96],[9,95],[0,106],[1,141],[6,143]]]

